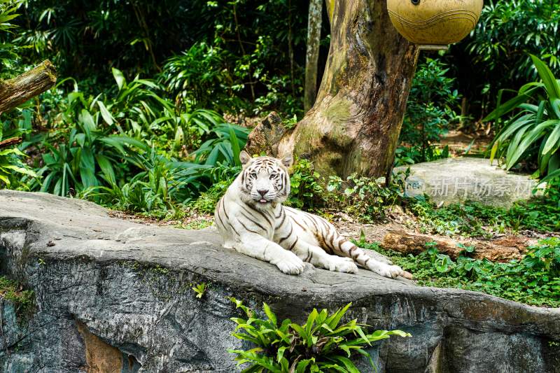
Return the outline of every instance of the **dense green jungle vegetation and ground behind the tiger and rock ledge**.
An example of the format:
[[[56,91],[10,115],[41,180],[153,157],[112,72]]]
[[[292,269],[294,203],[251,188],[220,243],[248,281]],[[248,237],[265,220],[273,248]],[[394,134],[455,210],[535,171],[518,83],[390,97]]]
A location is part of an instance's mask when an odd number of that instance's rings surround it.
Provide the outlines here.
[[[0,0],[0,78],[44,59],[58,76],[1,113],[0,141],[21,142],[0,148],[0,187],[88,199],[151,223],[211,225],[251,129],[272,111],[287,128],[304,115],[308,10],[295,0]],[[322,17],[315,90],[330,43],[324,4]],[[297,159],[289,204],[348,228],[419,284],[559,307],[559,25],[556,1],[485,1],[470,36],[421,52],[395,154],[395,167],[493,158],[545,182],[540,196],[510,209],[436,206],[407,195],[398,177],[322,175]],[[432,241],[399,253],[361,230],[395,224],[475,244],[457,255]],[[532,240],[522,258],[474,254],[477,243],[519,235]]]

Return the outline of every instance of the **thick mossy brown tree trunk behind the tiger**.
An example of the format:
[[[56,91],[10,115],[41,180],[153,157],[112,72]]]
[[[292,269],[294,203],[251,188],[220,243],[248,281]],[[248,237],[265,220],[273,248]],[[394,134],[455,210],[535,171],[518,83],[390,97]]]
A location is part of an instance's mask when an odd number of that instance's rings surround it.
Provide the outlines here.
[[[385,176],[419,50],[394,29],[384,0],[328,0],[327,9],[331,41],[321,87],[279,153],[309,158],[323,176]]]

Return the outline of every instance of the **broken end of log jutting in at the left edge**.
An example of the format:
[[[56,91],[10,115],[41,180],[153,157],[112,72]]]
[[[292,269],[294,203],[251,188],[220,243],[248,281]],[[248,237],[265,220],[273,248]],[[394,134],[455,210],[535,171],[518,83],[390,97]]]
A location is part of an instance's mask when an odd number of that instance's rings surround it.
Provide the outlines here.
[[[35,69],[10,80],[0,80],[0,114],[45,92],[57,81],[55,66],[48,59]]]

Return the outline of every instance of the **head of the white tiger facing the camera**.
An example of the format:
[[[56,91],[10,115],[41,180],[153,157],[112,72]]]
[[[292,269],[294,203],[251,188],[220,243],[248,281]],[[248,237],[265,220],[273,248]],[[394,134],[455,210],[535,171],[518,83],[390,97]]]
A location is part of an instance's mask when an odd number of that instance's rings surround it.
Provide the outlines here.
[[[292,165],[291,155],[281,160],[274,157],[252,158],[243,150],[239,160],[243,165],[239,176],[243,202],[265,207],[286,201],[290,194],[288,167]]]

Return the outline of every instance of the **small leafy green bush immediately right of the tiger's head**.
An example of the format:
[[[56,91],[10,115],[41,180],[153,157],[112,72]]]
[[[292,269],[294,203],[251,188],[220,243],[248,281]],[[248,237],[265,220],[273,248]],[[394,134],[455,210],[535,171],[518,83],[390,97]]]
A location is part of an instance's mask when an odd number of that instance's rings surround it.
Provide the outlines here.
[[[299,159],[293,164],[290,176],[290,197],[287,204],[297,209],[312,210],[321,203],[321,176],[309,160]]]

